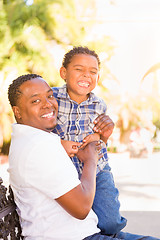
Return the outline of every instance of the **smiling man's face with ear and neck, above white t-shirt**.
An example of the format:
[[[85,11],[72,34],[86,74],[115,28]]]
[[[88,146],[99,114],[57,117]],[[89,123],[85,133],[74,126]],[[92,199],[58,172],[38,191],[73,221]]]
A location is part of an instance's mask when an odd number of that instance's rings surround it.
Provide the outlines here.
[[[17,123],[47,132],[56,126],[58,104],[53,91],[42,78],[34,78],[20,86],[22,95],[13,111]]]

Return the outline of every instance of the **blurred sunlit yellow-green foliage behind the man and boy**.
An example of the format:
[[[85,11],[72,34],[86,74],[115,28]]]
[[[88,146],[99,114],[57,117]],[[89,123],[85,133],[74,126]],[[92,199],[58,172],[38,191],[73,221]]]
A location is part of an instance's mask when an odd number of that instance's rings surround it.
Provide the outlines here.
[[[9,83],[19,75],[37,73],[51,86],[62,85],[59,67],[71,46],[87,45],[98,54],[106,54],[99,86],[108,100],[103,81],[108,78],[114,81],[107,62],[114,54],[115,43],[109,36],[94,41],[88,38],[94,29],[95,13],[96,4],[91,0],[34,0],[31,5],[27,5],[27,0],[0,1],[0,132],[3,136],[0,147],[3,153],[7,152],[14,121],[6,100]],[[90,20],[86,21],[85,16]]]

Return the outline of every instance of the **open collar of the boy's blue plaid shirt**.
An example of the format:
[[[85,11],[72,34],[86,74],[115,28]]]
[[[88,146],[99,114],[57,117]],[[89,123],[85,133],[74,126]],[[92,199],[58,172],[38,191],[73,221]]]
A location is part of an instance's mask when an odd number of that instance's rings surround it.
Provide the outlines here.
[[[58,98],[63,98],[63,99],[68,99],[69,101],[74,102],[67,93],[67,85],[66,84],[64,84],[63,87],[59,88],[57,97]],[[96,95],[93,92],[91,92],[91,93],[89,93],[89,98],[86,101],[84,101],[80,104],[81,105],[86,104],[86,103],[87,104],[92,104],[93,102],[99,103],[100,100],[96,97]]]

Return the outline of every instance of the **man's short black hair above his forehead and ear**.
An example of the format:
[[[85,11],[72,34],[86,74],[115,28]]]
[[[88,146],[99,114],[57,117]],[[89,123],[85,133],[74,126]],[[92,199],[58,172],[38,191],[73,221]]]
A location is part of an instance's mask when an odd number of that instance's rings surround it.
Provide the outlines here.
[[[26,74],[26,75],[22,75],[22,76],[16,78],[9,85],[9,88],[8,88],[8,100],[9,100],[10,105],[12,107],[16,106],[17,100],[19,99],[19,97],[22,94],[22,92],[20,91],[20,86],[24,82],[29,81],[29,80],[31,80],[33,78],[42,78],[42,77],[40,75],[38,75],[38,74]]]

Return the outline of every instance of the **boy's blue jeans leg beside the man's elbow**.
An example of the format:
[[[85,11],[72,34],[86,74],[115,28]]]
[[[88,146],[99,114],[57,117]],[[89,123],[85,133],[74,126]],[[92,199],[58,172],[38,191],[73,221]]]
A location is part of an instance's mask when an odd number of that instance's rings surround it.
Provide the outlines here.
[[[111,168],[107,164],[97,174],[96,194],[93,210],[98,216],[98,227],[102,233],[112,235],[118,233],[126,226],[127,220],[120,215],[119,192],[115,187]]]

